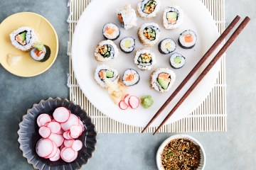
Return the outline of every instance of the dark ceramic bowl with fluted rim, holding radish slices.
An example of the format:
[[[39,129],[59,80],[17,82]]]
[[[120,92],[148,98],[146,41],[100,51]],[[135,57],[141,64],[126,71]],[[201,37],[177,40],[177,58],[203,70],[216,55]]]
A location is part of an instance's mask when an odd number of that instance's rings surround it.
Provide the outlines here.
[[[41,113],[52,115],[55,108],[60,106],[68,108],[71,113],[78,115],[85,125],[85,131],[79,137],[79,140],[83,143],[82,149],[78,152],[78,158],[70,163],[64,162],[62,159],[59,159],[57,162],[50,162],[49,159],[43,159],[36,154],[36,142],[41,139],[41,136],[38,134],[36,119]],[[80,169],[83,164],[87,164],[88,159],[92,157],[92,152],[95,150],[95,125],[92,124],[87,113],[80,106],[75,105],[75,103],[67,99],[48,98],[46,101],[34,104],[31,109],[28,109],[26,115],[23,115],[23,120],[19,123],[18,142],[23,152],[23,157],[27,159],[28,164],[33,165],[34,169]]]

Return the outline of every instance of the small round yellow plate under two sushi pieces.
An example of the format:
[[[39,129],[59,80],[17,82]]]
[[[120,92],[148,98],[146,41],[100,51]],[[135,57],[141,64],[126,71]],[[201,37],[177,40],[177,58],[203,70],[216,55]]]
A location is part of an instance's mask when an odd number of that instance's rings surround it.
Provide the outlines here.
[[[9,35],[22,26],[34,28],[38,33],[39,42],[50,47],[50,58],[46,62],[36,62],[29,52],[18,50],[11,44]],[[12,74],[19,77],[34,77],[46,72],[55,62],[58,55],[58,36],[53,26],[43,16],[30,12],[15,13],[1,23],[0,33],[0,63]],[[13,66],[8,64],[9,54],[21,56],[18,64]]]

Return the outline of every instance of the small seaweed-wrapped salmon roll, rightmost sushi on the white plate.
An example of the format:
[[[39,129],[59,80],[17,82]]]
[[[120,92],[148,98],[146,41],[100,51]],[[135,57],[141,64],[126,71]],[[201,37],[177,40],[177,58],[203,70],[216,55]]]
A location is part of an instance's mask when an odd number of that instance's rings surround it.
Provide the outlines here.
[[[196,33],[193,30],[185,30],[178,38],[178,45],[183,49],[191,49],[196,45]]]

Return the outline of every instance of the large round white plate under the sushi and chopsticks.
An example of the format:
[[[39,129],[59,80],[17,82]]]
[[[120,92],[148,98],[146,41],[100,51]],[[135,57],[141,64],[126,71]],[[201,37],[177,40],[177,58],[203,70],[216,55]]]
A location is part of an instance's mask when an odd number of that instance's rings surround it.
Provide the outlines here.
[[[158,44],[154,47],[149,47],[148,49],[153,51],[156,55],[157,63],[153,69],[150,71],[142,71],[134,64],[134,52],[127,55],[124,52],[120,52],[120,55],[112,61],[109,62],[97,62],[94,57],[94,50],[96,45],[104,40],[102,35],[102,27],[105,23],[116,23],[120,26],[115,11],[117,8],[123,7],[126,4],[132,4],[132,7],[137,11],[137,0],[94,0],[85,9],[80,17],[80,21],[75,28],[75,34],[73,36],[73,46],[72,46],[72,60],[73,69],[75,71],[75,77],[78,80],[78,84],[82,89],[82,92],[89,99],[89,101],[102,113],[109,116],[110,118],[117,120],[118,122],[125,123],[127,125],[134,125],[139,127],[144,127],[152,116],[159,110],[159,108],[164,104],[167,98],[174,92],[174,90],[181,84],[181,81],[188,75],[188,73],[193,69],[196,63],[203,57],[205,52],[209,47],[217,40],[218,30],[215,26],[212,16],[208,12],[207,8],[203,6],[199,0],[173,0],[173,1],[161,1],[161,10],[158,15],[151,20],[144,20],[138,18],[138,26],[130,29],[124,30],[120,27],[121,35],[117,40],[114,40],[115,44],[119,47],[119,41],[126,37],[132,36],[136,39],[136,49],[145,48],[142,43],[139,42],[137,36],[137,30],[143,23],[154,22],[158,23],[161,29],[161,37],[173,38],[176,41],[177,49],[176,52],[181,53],[186,57],[186,65],[181,69],[172,69],[176,73],[176,82],[174,86],[168,93],[160,94],[154,89],[150,88],[149,77],[154,69],[159,67],[169,68],[170,55],[161,55],[158,50]],[[162,15],[164,8],[170,6],[171,4],[178,5],[183,9],[184,21],[181,27],[176,30],[166,30],[162,24]],[[194,30],[197,34],[198,40],[196,46],[191,50],[183,50],[178,47],[178,35],[183,32],[183,30]],[[108,64],[119,71],[122,78],[122,74],[125,69],[136,69],[141,77],[139,84],[129,87],[128,93],[133,94],[137,97],[142,97],[144,95],[151,95],[154,98],[154,105],[149,109],[145,109],[142,106],[132,110],[128,108],[126,111],[122,111],[118,106],[116,106],[109,94],[107,89],[102,89],[97,85],[94,79],[95,69],[98,64]],[[206,67],[206,64],[203,68]],[[186,90],[191,86],[196,77],[203,72],[203,68],[196,72],[195,76],[192,77],[191,81],[186,84],[186,86],[181,90],[181,92],[174,98],[174,100],[166,107],[163,113],[157,118],[151,126],[158,126],[165,116],[171,111],[171,108],[175,106],[181,96],[186,92]],[[201,102],[209,94],[210,90],[218,76],[220,70],[220,62],[210,70],[207,76],[198,84],[196,89],[191,93],[190,96],[183,102],[183,104],[178,108],[178,110],[172,115],[167,123],[173,123],[176,120],[180,120],[185,117],[196,107],[198,107]]]

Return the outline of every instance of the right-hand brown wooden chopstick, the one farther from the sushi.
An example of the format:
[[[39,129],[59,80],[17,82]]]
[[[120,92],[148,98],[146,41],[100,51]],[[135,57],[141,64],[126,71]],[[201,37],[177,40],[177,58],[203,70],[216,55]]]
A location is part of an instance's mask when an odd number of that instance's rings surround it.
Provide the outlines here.
[[[166,116],[166,118],[163,120],[163,122],[159,125],[159,128],[156,129],[156,131],[154,132],[153,135],[156,134],[156,132],[164,125],[164,123],[166,123],[166,121],[171,117],[171,115],[177,110],[177,108],[179,106],[181,106],[181,103],[183,103],[183,101],[186,100],[186,98],[189,96],[189,94],[191,94],[191,92],[193,91],[193,89],[196,88],[196,86],[200,83],[200,81],[203,79],[203,77],[206,76],[206,74],[210,71],[211,68],[213,68],[214,64],[216,64],[216,62],[218,62],[218,60],[220,59],[220,57],[224,54],[224,52],[226,50],[228,50],[228,47],[230,47],[230,45],[234,42],[235,38],[238,37],[238,35],[242,32],[242,30],[245,28],[245,26],[247,26],[247,23],[250,21],[249,17],[245,17],[245,19],[242,21],[242,23],[240,24],[240,26],[238,26],[238,28],[235,30],[235,32],[230,36],[230,38],[228,39],[228,41],[225,43],[225,45],[223,45],[223,47],[220,49],[220,51],[218,52],[217,55],[215,55],[215,57],[213,58],[213,60],[210,62],[210,64],[208,64],[208,66],[206,67],[206,69],[203,70],[203,72],[200,74],[200,76],[198,77],[198,79],[196,79],[196,81],[192,84],[192,86],[188,89],[188,91],[186,91],[186,94],[183,95],[183,97],[181,98],[180,101],[178,101],[178,103],[176,104],[176,106],[174,106],[174,108],[171,110],[171,112]]]

